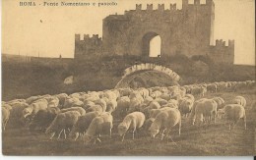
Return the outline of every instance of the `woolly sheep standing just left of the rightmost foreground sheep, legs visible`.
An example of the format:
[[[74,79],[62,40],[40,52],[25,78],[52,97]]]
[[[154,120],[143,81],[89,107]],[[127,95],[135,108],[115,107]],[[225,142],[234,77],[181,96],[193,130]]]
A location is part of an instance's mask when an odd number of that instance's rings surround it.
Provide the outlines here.
[[[214,117],[214,122],[216,123],[217,116],[217,106],[215,100],[213,99],[200,99],[195,102],[194,108],[191,111],[192,124],[194,125],[196,120],[199,120],[201,124],[204,122],[211,122],[212,117]]]

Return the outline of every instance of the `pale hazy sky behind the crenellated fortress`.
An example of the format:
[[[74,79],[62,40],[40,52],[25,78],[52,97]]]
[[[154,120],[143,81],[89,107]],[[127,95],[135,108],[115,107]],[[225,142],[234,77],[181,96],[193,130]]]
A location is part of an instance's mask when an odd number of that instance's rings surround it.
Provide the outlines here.
[[[102,19],[110,14],[123,14],[135,9],[140,0],[62,0],[62,2],[116,2],[117,6],[43,6],[21,7],[20,0],[2,0],[2,53],[40,57],[74,56],[75,33],[102,34]],[[177,3],[182,0],[141,0],[147,3]],[[192,0],[193,1],[193,0]],[[255,1],[214,0],[215,39],[235,39],[235,64],[255,64]],[[41,4],[39,6],[39,4]],[[41,21],[41,22],[40,22]],[[82,35],[83,37],[83,35]],[[226,42],[227,44],[227,42]]]

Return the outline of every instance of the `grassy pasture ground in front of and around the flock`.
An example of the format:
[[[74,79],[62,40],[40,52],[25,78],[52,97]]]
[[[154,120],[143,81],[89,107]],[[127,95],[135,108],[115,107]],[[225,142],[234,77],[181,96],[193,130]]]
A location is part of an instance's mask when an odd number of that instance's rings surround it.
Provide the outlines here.
[[[228,103],[234,96],[242,95],[247,100],[247,130],[239,121],[234,130],[228,131],[226,121],[217,119],[217,124],[205,127],[191,126],[188,119],[182,118],[181,135],[177,128],[171,132],[171,140],[160,141],[151,138],[145,131],[139,131],[132,140],[128,133],[124,142],[116,134],[118,122],[114,122],[112,138],[103,136],[101,143],[85,145],[82,140],[49,140],[44,133],[28,129],[7,128],[3,133],[4,155],[255,155],[255,102],[256,88],[237,92],[208,93],[206,97],[222,96]],[[197,97],[198,99],[198,97]],[[254,103],[255,104],[255,103]]]

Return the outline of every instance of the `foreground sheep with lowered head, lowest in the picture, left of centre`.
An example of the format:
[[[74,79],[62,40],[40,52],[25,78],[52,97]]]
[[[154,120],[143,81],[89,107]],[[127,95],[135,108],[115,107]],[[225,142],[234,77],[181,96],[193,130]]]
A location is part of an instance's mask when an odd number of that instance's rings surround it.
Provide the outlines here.
[[[109,134],[111,137],[111,130],[113,128],[113,117],[111,113],[104,112],[94,118],[90,124],[87,133],[84,135],[84,143],[90,143],[92,140],[95,141],[99,139],[99,136],[102,134]],[[107,133],[106,133],[107,132]]]

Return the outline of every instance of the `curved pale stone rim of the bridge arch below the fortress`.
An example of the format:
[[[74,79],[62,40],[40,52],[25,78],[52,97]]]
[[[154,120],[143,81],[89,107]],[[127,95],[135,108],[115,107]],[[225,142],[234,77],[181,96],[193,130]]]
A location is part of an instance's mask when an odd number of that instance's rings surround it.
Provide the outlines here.
[[[164,66],[151,64],[151,63],[145,63],[140,65],[133,65],[127,69],[124,70],[124,74],[122,76],[122,79],[117,82],[115,85],[115,88],[120,88],[125,80],[133,79],[134,75],[137,75],[139,73],[147,72],[147,71],[155,71],[161,74],[167,75],[170,80],[173,81],[179,81],[181,80],[179,75],[177,75],[175,72],[173,72],[171,69],[166,68]]]

